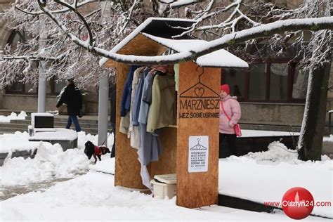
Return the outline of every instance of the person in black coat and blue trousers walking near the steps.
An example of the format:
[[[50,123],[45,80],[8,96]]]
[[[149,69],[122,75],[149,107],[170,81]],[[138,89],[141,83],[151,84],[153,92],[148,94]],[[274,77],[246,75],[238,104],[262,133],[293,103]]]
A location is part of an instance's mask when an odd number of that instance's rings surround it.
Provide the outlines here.
[[[67,79],[67,86],[63,93],[61,93],[60,99],[56,105],[57,108],[60,107],[60,105],[63,105],[63,103],[67,104],[68,119],[66,129],[70,129],[73,122],[75,130],[77,132],[81,131],[77,116],[82,117],[82,95],[81,91],[75,87],[74,79]]]

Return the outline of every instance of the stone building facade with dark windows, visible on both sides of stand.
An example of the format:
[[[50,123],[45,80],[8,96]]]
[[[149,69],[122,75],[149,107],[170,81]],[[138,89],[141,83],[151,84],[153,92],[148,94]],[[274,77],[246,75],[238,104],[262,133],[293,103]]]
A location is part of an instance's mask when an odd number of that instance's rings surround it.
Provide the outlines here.
[[[0,11],[13,1],[0,0]],[[295,8],[301,0],[279,0],[277,4]],[[149,4],[149,3],[148,3]],[[0,47],[15,43],[20,35],[0,24]],[[223,70],[222,82],[230,84],[230,93],[237,96],[242,106],[241,123],[247,129],[299,131],[303,119],[308,73],[299,69],[297,62],[288,63],[292,52],[281,58],[258,60],[248,70]],[[64,82],[48,81],[46,110],[55,110],[56,95]],[[330,83],[333,82],[331,66]],[[0,85],[0,110],[36,111],[37,90],[29,84]],[[98,90],[91,89],[84,96],[86,115],[98,113]],[[333,89],[328,92],[327,111],[333,110]],[[328,114],[327,114],[328,124]]]

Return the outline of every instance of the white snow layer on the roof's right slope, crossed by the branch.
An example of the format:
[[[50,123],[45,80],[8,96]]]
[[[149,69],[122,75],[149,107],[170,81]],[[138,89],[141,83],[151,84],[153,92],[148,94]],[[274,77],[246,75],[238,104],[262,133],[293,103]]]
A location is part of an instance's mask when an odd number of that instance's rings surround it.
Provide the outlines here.
[[[166,46],[168,48],[174,49],[178,52],[185,51],[194,51],[197,46],[204,46],[208,43],[208,41],[200,40],[200,39],[165,39],[161,37],[155,37],[151,34],[141,33],[145,37],[148,37],[154,41],[157,41],[159,44]],[[220,49],[218,51],[214,51],[207,55],[202,55],[195,63],[200,66],[207,67],[242,67],[247,68],[249,65],[244,60],[238,58],[236,55],[229,53],[224,49]]]

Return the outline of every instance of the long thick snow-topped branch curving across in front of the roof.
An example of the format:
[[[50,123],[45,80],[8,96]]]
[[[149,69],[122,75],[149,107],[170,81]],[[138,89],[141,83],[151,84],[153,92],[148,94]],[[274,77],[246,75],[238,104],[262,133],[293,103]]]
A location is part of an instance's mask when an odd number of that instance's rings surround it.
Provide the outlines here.
[[[233,44],[242,43],[249,39],[256,39],[259,37],[268,37],[273,34],[278,34],[280,32],[292,31],[292,30],[333,30],[333,17],[322,17],[322,18],[301,18],[301,19],[289,19],[280,20],[277,22],[272,22],[269,24],[259,25],[252,27],[247,30],[242,30],[232,34],[226,34],[220,39],[207,42],[204,46],[197,46],[197,48],[192,48],[191,51],[185,51],[180,53],[175,53],[173,55],[159,55],[159,56],[139,56],[139,55],[122,55],[117,53],[111,53],[103,48],[98,48],[96,46],[89,46],[85,41],[81,41],[75,37],[67,28],[62,25],[48,9],[41,7],[41,10],[48,15],[49,18],[57,24],[63,32],[70,37],[70,39],[83,48],[96,53],[97,55],[103,56],[105,58],[110,58],[120,63],[127,64],[138,64],[138,65],[161,65],[161,64],[172,64],[179,63],[187,60],[194,60],[197,57],[206,55],[213,51],[226,48]]]

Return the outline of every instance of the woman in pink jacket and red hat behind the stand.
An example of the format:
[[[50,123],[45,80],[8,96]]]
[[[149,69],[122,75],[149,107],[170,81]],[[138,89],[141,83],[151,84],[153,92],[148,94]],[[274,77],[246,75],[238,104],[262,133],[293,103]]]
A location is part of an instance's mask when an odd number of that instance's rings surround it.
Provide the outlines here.
[[[220,93],[220,157],[221,144],[226,139],[231,155],[237,155],[236,134],[233,126],[240,120],[241,111],[240,103],[233,99],[230,95],[229,85],[221,85]],[[223,108],[222,108],[223,105]],[[224,112],[223,112],[224,109]],[[228,117],[226,116],[228,115]]]

